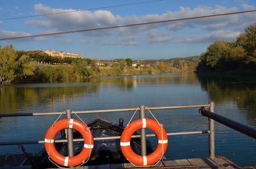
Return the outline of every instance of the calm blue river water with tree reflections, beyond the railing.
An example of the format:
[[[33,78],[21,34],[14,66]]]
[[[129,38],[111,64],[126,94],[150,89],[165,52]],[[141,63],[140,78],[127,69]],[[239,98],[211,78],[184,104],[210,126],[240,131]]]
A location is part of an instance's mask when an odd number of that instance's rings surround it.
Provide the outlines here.
[[[88,82],[15,84],[0,86],[0,114],[62,112],[66,108],[100,110],[216,103],[215,112],[256,128],[256,82],[253,80],[197,78],[194,73],[168,73],[129,77],[93,78]],[[125,124],[133,112],[100,114],[102,119]],[[198,108],[155,110],[168,132],[207,129]],[[96,115],[80,115],[90,122]],[[150,117],[150,114],[147,114]],[[56,116],[0,119],[0,142],[43,140]],[[153,139],[152,142],[155,140]],[[24,145],[38,152],[44,145]],[[16,146],[1,146],[0,154],[20,153]],[[216,154],[238,165],[256,165],[256,140],[216,122]],[[208,135],[170,136],[166,158],[200,158],[208,155]]]

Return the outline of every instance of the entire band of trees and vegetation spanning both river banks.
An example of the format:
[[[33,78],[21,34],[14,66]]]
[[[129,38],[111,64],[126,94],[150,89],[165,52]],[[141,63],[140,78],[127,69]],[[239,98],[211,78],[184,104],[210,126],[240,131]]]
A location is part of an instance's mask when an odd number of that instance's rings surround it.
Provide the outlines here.
[[[38,52],[39,51],[39,52]],[[255,74],[256,24],[246,27],[236,41],[214,41],[200,56],[132,61],[52,57],[43,51],[0,47],[0,84],[13,82],[81,82],[92,77],[150,75],[196,71],[198,75]],[[220,73],[221,72],[221,73]]]

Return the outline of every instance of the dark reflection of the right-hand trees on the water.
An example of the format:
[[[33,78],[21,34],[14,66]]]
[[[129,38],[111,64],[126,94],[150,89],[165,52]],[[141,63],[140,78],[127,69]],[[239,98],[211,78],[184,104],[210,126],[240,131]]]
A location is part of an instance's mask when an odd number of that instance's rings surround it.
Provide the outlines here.
[[[256,121],[256,81],[252,77],[198,77],[202,90],[216,104],[231,101],[246,110],[248,122]],[[255,122],[254,122],[255,123]]]

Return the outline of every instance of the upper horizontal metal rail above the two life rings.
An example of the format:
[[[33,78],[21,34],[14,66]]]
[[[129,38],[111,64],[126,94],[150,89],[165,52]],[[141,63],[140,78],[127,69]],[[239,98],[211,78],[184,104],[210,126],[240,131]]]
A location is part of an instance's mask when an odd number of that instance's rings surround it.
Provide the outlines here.
[[[209,108],[207,105],[185,105],[185,106],[173,106],[173,107],[148,107],[150,110],[164,110],[164,109],[176,109],[176,108],[199,108],[205,107]],[[76,114],[95,114],[95,113],[110,113],[110,112],[132,112],[137,110],[137,108],[120,108],[120,109],[109,109],[109,110],[84,110],[76,111]],[[140,110],[140,108],[138,108]],[[72,112],[74,113],[74,112]],[[37,112],[37,113],[26,113],[26,114],[0,114],[1,117],[22,117],[22,116],[39,116],[39,115],[61,115],[65,112]]]

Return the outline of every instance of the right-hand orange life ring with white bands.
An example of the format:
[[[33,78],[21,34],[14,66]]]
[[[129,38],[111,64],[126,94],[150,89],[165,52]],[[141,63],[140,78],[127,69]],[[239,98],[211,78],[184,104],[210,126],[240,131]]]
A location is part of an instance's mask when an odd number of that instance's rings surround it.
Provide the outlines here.
[[[156,150],[147,156],[140,156],[132,151],[130,140],[131,136],[135,131],[141,128],[152,129],[156,133],[158,138],[158,145]],[[127,126],[120,138],[120,147],[125,158],[134,165],[143,166],[143,165],[154,165],[159,159],[161,159],[166,152],[168,145],[168,137],[163,126],[160,126],[157,121],[152,119],[138,119],[134,122],[131,122]]]

